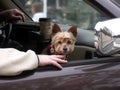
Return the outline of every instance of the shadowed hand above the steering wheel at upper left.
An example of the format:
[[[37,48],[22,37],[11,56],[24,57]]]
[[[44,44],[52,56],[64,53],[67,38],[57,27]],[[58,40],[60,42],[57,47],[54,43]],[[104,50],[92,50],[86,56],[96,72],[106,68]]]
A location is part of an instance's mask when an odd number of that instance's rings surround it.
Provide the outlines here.
[[[24,14],[18,9],[9,9],[9,10],[2,11],[0,12],[0,16],[3,17],[4,20],[12,21],[12,22],[25,20]]]

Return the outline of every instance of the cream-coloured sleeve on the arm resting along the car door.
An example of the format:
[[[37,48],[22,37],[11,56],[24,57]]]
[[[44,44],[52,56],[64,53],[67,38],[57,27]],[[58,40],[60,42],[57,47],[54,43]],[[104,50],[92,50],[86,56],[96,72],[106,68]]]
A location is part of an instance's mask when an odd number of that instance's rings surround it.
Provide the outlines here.
[[[32,50],[22,52],[13,48],[0,49],[0,75],[18,75],[37,67],[38,58]]]

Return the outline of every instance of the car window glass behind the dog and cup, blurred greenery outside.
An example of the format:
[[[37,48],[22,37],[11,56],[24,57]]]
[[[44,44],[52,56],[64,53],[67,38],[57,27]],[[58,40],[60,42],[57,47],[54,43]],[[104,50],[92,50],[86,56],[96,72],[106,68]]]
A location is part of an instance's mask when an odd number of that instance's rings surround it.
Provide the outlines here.
[[[49,17],[53,22],[77,25],[82,29],[93,30],[103,17],[83,0],[19,0],[23,9],[33,21]]]

